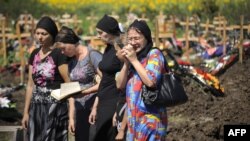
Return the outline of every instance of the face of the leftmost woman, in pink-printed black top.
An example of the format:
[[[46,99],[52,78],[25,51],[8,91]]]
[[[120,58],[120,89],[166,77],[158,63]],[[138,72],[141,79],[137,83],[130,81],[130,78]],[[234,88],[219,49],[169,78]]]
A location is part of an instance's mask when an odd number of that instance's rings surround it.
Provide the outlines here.
[[[43,28],[37,28],[35,39],[41,47],[50,47],[53,44],[53,37]]]

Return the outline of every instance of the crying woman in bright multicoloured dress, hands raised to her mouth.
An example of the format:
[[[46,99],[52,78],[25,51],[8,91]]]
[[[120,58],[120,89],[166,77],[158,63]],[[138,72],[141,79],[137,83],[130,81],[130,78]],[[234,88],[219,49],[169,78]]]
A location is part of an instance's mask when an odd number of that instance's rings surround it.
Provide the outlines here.
[[[117,87],[126,88],[127,141],[163,141],[166,136],[165,108],[145,105],[142,85],[157,87],[166,71],[163,54],[152,49],[151,31],[145,21],[134,21],[127,32],[128,45],[121,50],[124,65]]]

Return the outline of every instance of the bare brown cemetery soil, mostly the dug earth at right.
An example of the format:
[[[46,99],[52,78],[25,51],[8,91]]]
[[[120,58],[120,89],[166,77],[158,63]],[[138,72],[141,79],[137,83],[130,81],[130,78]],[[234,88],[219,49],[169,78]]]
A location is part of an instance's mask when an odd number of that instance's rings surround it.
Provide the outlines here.
[[[219,79],[225,88],[224,97],[215,97],[194,83],[185,85],[189,101],[168,108],[169,141],[217,141],[224,138],[224,125],[250,123],[250,59],[237,62]],[[5,71],[0,74],[2,84],[18,84],[20,78]],[[23,112],[25,89],[12,94],[16,109]],[[21,118],[14,121],[0,119],[0,126],[20,126]],[[6,134],[6,133],[5,133]],[[4,133],[0,133],[0,138]]]

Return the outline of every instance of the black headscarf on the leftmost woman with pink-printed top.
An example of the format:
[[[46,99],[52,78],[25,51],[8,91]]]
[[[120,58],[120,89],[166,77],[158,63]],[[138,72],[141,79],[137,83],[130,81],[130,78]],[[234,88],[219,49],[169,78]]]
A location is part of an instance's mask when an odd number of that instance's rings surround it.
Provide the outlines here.
[[[45,29],[53,37],[53,40],[55,40],[58,29],[56,23],[50,17],[42,17],[36,25],[37,28]]]

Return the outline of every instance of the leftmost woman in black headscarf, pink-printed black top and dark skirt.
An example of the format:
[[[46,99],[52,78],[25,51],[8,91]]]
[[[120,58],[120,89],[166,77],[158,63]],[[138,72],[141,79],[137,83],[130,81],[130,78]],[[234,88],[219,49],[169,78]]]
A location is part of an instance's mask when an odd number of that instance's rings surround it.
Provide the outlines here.
[[[22,120],[29,141],[67,141],[68,106],[66,100],[50,96],[60,84],[69,82],[67,58],[54,48],[58,33],[50,17],[42,17],[35,30],[39,48],[29,58],[29,78]]]

